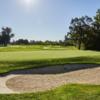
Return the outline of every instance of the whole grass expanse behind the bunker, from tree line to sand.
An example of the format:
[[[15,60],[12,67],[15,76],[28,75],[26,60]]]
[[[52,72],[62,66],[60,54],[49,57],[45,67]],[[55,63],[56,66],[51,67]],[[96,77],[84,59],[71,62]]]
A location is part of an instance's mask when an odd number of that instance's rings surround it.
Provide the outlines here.
[[[39,49],[36,50],[36,48]],[[70,50],[71,48],[59,46],[15,46],[0,48],[0,73],[54,64],[100,64],[99,52],[79,51],[75,48]]]

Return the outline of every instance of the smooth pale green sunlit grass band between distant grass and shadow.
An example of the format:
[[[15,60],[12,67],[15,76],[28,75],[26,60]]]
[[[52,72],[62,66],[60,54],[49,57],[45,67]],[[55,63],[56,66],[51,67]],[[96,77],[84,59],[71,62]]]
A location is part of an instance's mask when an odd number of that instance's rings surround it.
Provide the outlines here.
[[[74,57],[99,57],[100,52],[82,50],[34,50],[0,52],[0,61],[32,61]]]

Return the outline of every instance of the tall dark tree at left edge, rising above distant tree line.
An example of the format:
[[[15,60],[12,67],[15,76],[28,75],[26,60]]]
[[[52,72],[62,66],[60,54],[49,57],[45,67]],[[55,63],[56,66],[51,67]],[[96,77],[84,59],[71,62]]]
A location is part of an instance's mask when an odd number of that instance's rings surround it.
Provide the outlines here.
[[[7,44],[10,43],[12,37],[14,37],[14,34],[12,33],[12,29],[9,27],[5,27],[5,28],[3,27],[0,35],[1,44],[3,46],[7,46]]]

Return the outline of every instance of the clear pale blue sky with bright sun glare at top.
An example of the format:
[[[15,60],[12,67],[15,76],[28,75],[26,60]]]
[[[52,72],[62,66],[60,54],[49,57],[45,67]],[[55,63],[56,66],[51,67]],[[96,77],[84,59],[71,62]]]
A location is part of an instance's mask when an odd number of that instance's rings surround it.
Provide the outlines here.
[[[0,28],[13,39],[64,40],[74,17],[96,15],[100,0],[0,0]]]

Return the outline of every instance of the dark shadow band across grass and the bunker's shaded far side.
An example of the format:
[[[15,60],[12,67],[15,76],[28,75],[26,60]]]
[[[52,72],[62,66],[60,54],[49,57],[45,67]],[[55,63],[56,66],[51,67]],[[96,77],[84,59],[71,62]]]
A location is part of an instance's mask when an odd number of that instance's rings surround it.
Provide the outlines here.
[[[0,77],[10,74],[61,74],[100,67],[100,57],[73,57],[22,62],[0,62],[0,64]]]

